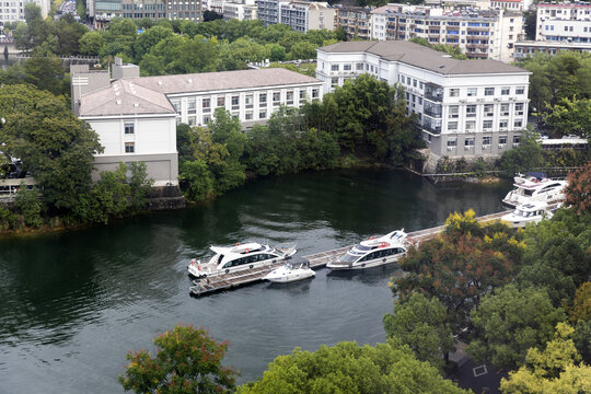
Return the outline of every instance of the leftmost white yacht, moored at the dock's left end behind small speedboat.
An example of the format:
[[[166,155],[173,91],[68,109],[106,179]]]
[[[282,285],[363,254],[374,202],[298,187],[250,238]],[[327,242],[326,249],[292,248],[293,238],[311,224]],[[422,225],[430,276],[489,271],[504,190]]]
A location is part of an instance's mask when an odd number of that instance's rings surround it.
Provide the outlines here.
[[[207,278],[236,271],[245,271],[290,258],[296,245],[270,247],[257,242],[236,243],[234,246],[210,246],[215,255],[208,263],[193,258],[187,267],[189,275]]]

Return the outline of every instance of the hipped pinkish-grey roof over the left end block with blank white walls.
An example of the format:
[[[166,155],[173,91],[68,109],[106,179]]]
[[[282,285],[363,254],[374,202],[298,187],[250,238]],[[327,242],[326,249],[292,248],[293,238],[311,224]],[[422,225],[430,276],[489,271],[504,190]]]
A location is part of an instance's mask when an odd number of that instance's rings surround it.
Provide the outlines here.
[[[80,116],[176,114],[165,95],[117,80],[111,86],[85,94],[80,100]]]

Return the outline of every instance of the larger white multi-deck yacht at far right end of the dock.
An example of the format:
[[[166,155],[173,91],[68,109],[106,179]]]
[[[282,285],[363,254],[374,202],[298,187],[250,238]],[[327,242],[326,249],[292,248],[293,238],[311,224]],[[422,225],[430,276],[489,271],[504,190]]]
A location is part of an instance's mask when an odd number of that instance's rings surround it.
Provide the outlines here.
[[[502,202],[511,208],[529,202],[546,202],[548,205],[563,201],[567,181],[555,181],[545,177],[542,173],[529,175],[517,174],[513,186]]]

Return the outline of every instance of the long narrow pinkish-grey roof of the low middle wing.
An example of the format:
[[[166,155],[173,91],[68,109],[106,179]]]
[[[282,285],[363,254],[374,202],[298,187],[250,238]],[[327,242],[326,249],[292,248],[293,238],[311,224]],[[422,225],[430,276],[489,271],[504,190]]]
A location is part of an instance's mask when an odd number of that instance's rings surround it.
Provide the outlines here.
[[[282,68],[140,77],[128,79],[128,81],[164,94],[202,93],[322,82],[315,78]]]

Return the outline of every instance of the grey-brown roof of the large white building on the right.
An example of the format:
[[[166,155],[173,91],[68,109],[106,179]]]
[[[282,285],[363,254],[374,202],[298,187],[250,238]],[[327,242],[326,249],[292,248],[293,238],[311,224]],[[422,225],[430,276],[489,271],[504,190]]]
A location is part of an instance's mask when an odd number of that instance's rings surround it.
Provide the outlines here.
[[[443,53],[406,40],[349,42],[318,50],[332,54],[367,51],[385,60],[399,61],[440,74],[529,73],[497,60],[457,60]]]

